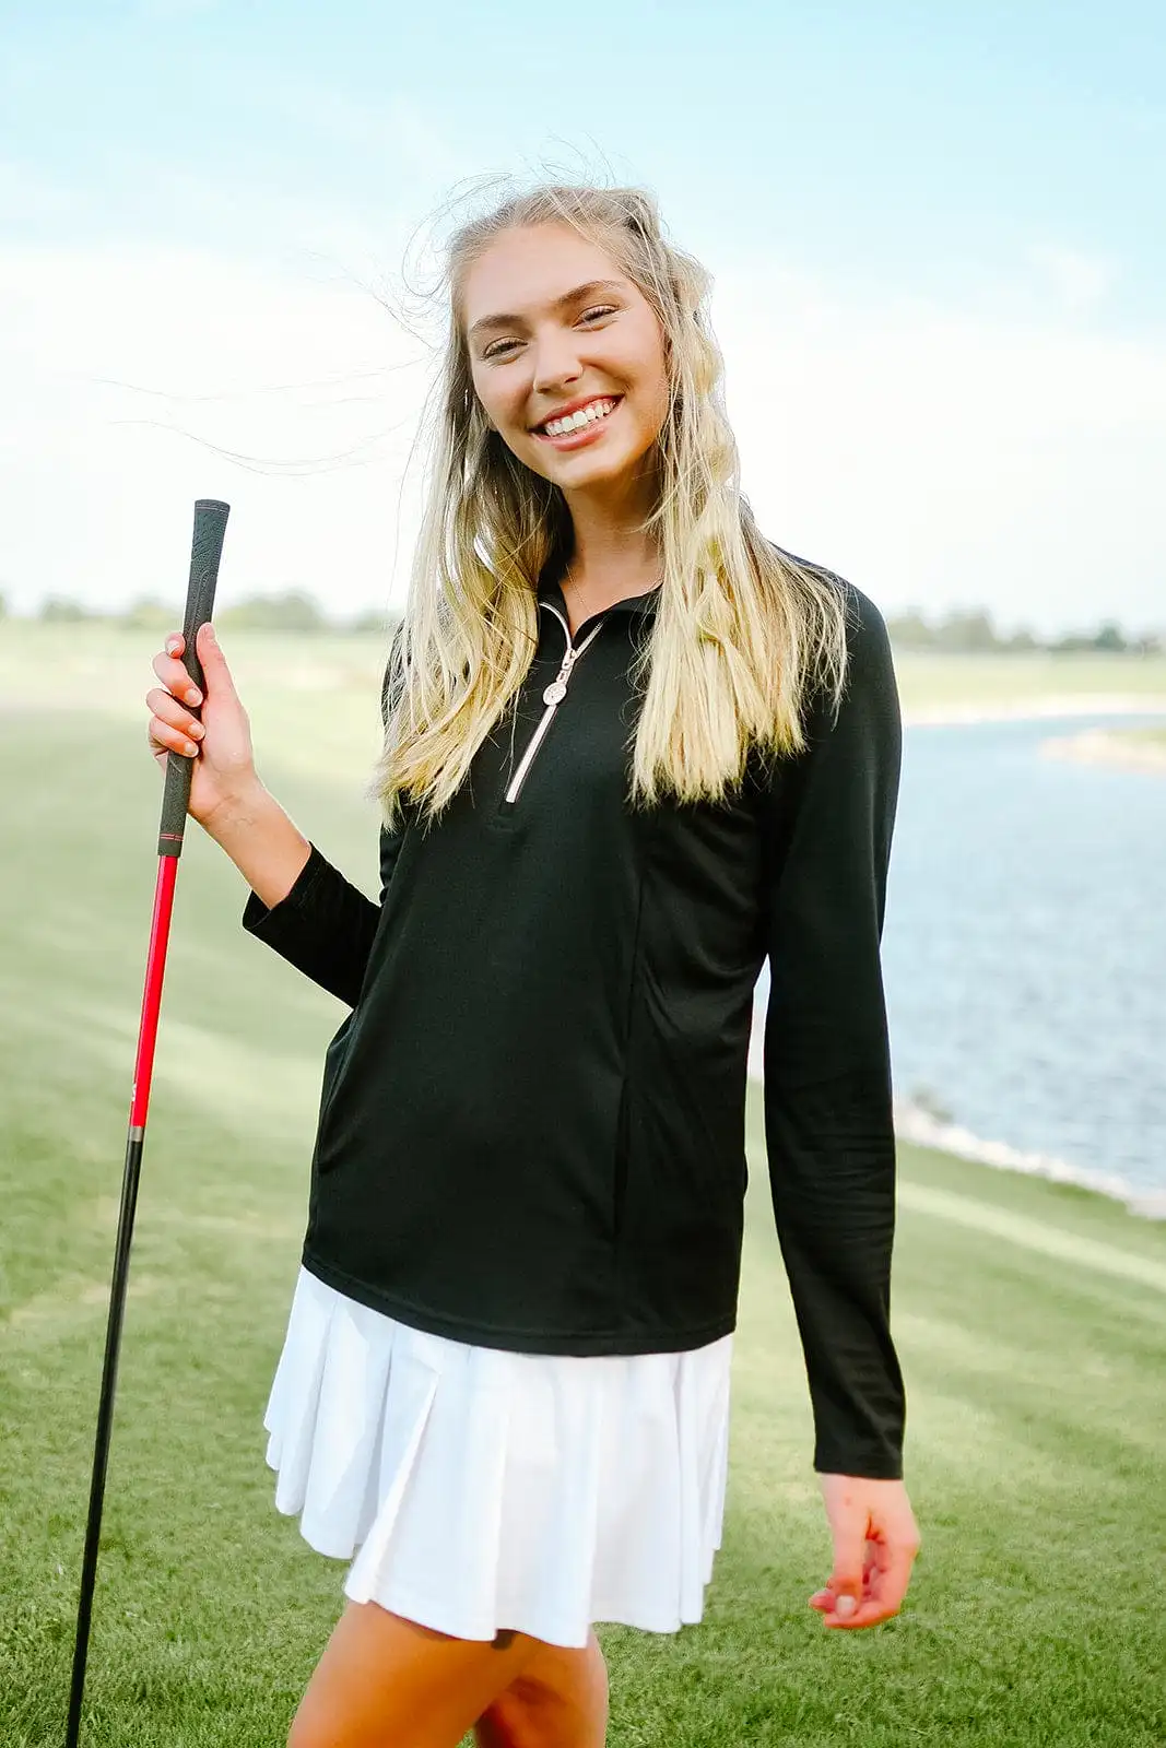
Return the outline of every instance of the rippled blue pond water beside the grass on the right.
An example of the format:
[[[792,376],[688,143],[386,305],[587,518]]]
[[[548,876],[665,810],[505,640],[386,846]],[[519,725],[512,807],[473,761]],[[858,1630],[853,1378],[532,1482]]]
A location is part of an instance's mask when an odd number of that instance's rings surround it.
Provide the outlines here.
[[[1038,750],[1114,725],[906,729],[883,933],[893,1084],[900,1105],[1117,1194],[1166,1192],[1166,774]],[[766,995],[762,974],[759,1023]]]

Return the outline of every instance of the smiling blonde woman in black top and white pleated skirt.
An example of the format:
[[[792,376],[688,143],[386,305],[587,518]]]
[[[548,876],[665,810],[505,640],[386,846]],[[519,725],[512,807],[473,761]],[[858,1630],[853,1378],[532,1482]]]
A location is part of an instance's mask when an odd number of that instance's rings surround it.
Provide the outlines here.
[[[773,1204],[834,1535],[811,1605],[886,1619],[918,1549],[883,619],[757,531],[710,281],[650,198],[537,189],[463,225],[446,283],[379,904],[259,781],[210,626],[201,724],[180,636],[147,694],[245,928],[348,1007],[266,1421],[280,1509],[358,1550],[294,1748],[596,1748],[593,1622],[701,1619],[766,954]]]

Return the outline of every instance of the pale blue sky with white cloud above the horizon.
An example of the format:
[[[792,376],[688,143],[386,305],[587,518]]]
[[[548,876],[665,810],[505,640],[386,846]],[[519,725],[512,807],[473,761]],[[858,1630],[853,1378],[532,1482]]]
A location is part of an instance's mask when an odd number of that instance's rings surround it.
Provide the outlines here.
[[[180,600],[220,495],[220,601],[399,600],[421,367],[371,288],[554,168],[713,271],[773,538],[886,610],[1163,624],[1164,93],[1121,0],[0,3],[0,589]]]

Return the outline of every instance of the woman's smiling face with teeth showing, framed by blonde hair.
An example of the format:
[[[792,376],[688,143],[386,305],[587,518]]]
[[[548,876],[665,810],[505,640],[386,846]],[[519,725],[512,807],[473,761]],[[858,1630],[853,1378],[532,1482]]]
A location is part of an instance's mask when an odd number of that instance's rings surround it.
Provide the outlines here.
[[[652,475],[668,413],[661,325],[598,245],[559,224],[503,232],[465,276],[462,323],[486,416],[568,503]]]

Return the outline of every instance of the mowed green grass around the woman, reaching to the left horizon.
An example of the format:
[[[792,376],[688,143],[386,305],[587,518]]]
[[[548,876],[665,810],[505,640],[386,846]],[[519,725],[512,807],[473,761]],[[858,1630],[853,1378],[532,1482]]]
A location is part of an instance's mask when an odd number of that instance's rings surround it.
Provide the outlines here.
[[[63,1741],[157,867],[142,703],[156,643],[0,626],[3,1748]],[[266,783],[374,895],[376,816],[360,799],[374,642],[224,645]],[[260,1419],[323,1045],[344,1010],[243,933],[245,897],[191,823],[94,1610],[93,1748],[278,1748],[339,1608],[344,1566],[273,1509]],[[725,1542],[699,1627],[601,1629],[612,1748],[1161,1745],[1166,1225],[902,1147],[893,1320],[923,1552],[900,1617],[829,1633],[806,1606],[830,1545],[759,1119],[753,1101]]]

